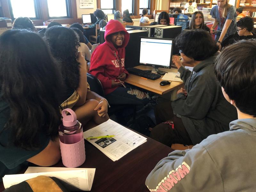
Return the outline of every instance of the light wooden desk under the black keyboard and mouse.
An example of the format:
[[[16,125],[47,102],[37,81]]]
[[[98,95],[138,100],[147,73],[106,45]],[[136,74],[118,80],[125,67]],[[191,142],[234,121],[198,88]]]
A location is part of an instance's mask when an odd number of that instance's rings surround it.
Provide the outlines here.
[[[140,66],[137,66],[135,68],[139,68],[139,69],[142,69],[142,70],[150,70],[153,67],[140,65]],[[171,69],[159,68],[159,69],[163,70],[163,71],[166,71],[166,72],[177,72],[177,69],[174,69],[174,68],[171,68]],[[159,95],[163,95],[167,92],[178,89],[178,87],[183,84],[182,82],[172,81],[170,85],[161,86],[160,82],[163,81],[162,77],[163,76],[161,76],[159,79],[156,79],[156,80],[150,80],[150,79],[142,78],[142,77],[137,76],[137,75],[130,74],[128,76],[128,78],[125,79],[124,82],[128,83],[128,84],[132,84],[132,85],[137,86],[137,87],[140,87],[142,89],[146,89],[148,91],[157,93]]]

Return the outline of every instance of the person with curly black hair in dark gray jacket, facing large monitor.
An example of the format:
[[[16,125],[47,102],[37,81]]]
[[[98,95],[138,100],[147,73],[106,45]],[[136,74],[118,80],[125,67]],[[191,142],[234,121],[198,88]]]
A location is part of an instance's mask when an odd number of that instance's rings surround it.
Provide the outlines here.
[[[214,76],[213,62],[218,46],[210,33],[202,29],[181,33],[175,38],[175,44],[183,62],[194,66],[193,72],[174,56],[172,61],[185,89],[177,92],[176,100],[156,105],[158,125],[150,137],[168,146],[173,143],[195,145],[211,134],[227,131],[229,122],[237,118],[236,108],[225,100]]]

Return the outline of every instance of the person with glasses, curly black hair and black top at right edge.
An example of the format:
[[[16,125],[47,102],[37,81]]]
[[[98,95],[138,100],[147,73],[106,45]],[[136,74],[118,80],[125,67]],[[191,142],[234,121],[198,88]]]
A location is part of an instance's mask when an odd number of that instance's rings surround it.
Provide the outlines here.
[[[221,46],[225,47],[236,43],[242,39],[255,39],[256,34],[252,32],[254,27],[253,18],[246,16],[236,22],[237,32],[233,35],[228,36],[222,43]]]

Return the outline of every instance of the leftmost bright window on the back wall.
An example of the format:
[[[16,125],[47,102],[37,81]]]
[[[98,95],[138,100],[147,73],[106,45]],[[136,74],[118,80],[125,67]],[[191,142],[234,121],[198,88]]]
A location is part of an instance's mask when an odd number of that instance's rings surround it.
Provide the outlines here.
[[[36,0],[9,0],[8,3],[12,20],[17,17],[38,18]]]

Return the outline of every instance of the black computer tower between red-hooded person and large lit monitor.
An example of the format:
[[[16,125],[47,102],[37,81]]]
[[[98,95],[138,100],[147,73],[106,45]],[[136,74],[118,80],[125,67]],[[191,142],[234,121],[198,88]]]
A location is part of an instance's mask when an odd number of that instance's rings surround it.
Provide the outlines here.
[[[147,37],[147,31],[131,30],[130,40],[125,47],[124,68],[130,68],[140,65],[140,37]]]

